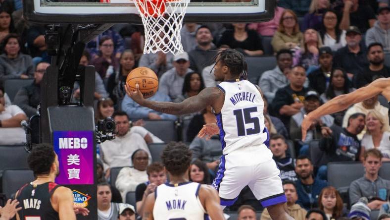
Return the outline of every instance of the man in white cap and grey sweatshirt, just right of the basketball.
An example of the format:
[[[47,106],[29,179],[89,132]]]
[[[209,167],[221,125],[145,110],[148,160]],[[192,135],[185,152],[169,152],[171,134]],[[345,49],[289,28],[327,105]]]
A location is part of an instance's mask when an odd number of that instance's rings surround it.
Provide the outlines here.
[[[166,71],[161,76],[158,83],[158,91],[175,100],[182,94],[186,74],[193,71],[189,68],[190,59],[187,52],[175,55],[173,58],[173,66],[174,68]]]

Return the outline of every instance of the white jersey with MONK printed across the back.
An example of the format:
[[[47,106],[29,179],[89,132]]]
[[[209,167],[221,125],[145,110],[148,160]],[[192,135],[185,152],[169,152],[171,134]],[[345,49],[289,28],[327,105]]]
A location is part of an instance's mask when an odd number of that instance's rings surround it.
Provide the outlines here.
[[[161,184],[155,190],[154,220],[208,220],[199,200],[199,183]]]

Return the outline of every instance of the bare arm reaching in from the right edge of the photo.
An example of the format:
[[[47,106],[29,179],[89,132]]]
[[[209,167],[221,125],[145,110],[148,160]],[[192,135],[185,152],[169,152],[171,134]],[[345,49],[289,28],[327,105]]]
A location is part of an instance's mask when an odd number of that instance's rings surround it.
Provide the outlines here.
[[[377,79],[371,84],[361,87],[360,89],[348,93],[346,95],[340,95],[332,100],[328,101],[324,105],[320,106],[314,111],[311,111],[302,121],[302,140],[306,138],[306,132],[313,123],[313,121],[323,115],[332,114],[348,108],[348,106],[362,102],[373,96],[381,94],[389,83],[389,79],[381,78]]]

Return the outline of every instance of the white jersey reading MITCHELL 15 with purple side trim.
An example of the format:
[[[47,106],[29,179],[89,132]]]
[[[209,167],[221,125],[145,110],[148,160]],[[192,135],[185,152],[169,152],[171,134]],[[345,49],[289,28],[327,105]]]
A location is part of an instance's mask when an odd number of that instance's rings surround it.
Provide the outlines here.
[[[267,133],[264,101],[257,87],[247,80],[224,81],[217,87],[225,93],[221,112],[216,114],[223,154],[262,145]]]

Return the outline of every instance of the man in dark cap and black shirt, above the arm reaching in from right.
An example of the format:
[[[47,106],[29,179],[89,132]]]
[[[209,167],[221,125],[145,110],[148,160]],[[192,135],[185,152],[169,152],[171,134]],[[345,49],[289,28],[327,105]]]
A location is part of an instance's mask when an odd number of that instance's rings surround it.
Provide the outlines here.
[[[345,40],[346,46],[337,51],[333,60],[335,66],[344,68],[348,78],[352,79],[354,74],[363,71],[364,66],[368,65],[368,60],[365,47],[360,46],[362,34],[359,28],[355,26],[347,28]]]

